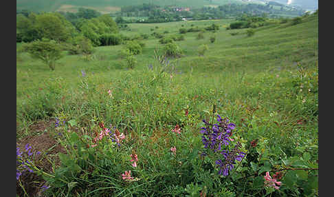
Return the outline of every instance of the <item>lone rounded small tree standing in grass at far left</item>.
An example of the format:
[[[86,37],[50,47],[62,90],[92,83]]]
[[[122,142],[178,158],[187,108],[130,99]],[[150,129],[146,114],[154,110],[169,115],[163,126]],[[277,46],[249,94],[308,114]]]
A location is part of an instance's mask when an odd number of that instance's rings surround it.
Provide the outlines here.
[[[49,65],[51,70],[56,67],[56,61],[63,57],[60,45],[54,40],[42,39],[25,43],[23,50],[28,52],[33,59],[40,59],[43,63]]]

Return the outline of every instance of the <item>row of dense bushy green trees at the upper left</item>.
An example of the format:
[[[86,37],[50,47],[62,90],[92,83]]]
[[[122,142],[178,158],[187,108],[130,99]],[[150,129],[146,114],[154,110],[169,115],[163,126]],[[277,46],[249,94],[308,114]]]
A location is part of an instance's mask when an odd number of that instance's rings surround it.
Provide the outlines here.
[[[93,14],[90,17],[84,14],[78,19],[80,20],[73,24],[58,12],[31,12],[27,16],[17,14],[16,41],[31,42],[45,38],[65,42],[84,36],[97,46],[101,44],[100,37],[103,34],[118,33],[117,23],[107,14]]]

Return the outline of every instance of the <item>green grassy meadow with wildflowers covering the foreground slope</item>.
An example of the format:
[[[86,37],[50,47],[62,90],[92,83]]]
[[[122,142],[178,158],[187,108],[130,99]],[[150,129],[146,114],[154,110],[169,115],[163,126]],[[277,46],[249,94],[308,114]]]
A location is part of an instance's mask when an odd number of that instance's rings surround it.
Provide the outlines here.
[[[89,60],[64,51],[54,71],[18,51],[16,140],[23,152],[32,146],[34,173],[21,175],[16,195],[318,196],[318,14],[252,37],[226,30],[232,22],[130,23],[121,34],[150,34],[133,69],[124,45],[97,47]],[[219,30],[203,39],[175,42],[179,58],[158,60],[153,32],[212,23]],[[244,153],[227,176],[217,167],[225,154],[203,141],[214,123],[233,130],[223,147]]]

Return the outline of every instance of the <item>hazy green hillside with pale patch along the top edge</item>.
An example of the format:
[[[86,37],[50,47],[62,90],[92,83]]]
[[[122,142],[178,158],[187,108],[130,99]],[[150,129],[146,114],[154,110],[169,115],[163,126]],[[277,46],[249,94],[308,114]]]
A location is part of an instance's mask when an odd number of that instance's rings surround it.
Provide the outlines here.
[[[57,10],[77,10],[80,7],[85,7],[95,8],[104,12],[104,7],[120,9],[122,6],[141,5],[142,3],[154,3],[159,6],[201,7],[203,5],[223,5],[225,3],[240,2],[238,0],[16,0],[16,9],[53,12]]]

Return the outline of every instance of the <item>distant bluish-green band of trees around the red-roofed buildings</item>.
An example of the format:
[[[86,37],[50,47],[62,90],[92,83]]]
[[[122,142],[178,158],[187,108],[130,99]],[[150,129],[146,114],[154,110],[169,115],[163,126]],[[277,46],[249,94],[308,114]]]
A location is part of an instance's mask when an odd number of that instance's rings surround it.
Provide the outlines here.
[[[263,16],[275,18],[281,15],[300,16],[304,10],[289,8],[282,4],[268,3],[267,5],[260,4],[227,4],[216,8],[203,7],[190,9],[179,6],[156,6],[153,4],[143,3],[140,6],[125,6],[121,11],[113,14],[115,17],[148,17],[148,19],[138,19],[124,22],[137,23],[159,23],[170,21],[181,21],[182,19],[226,19],[232,17],[240,17],[243,14],[253,16]]]

